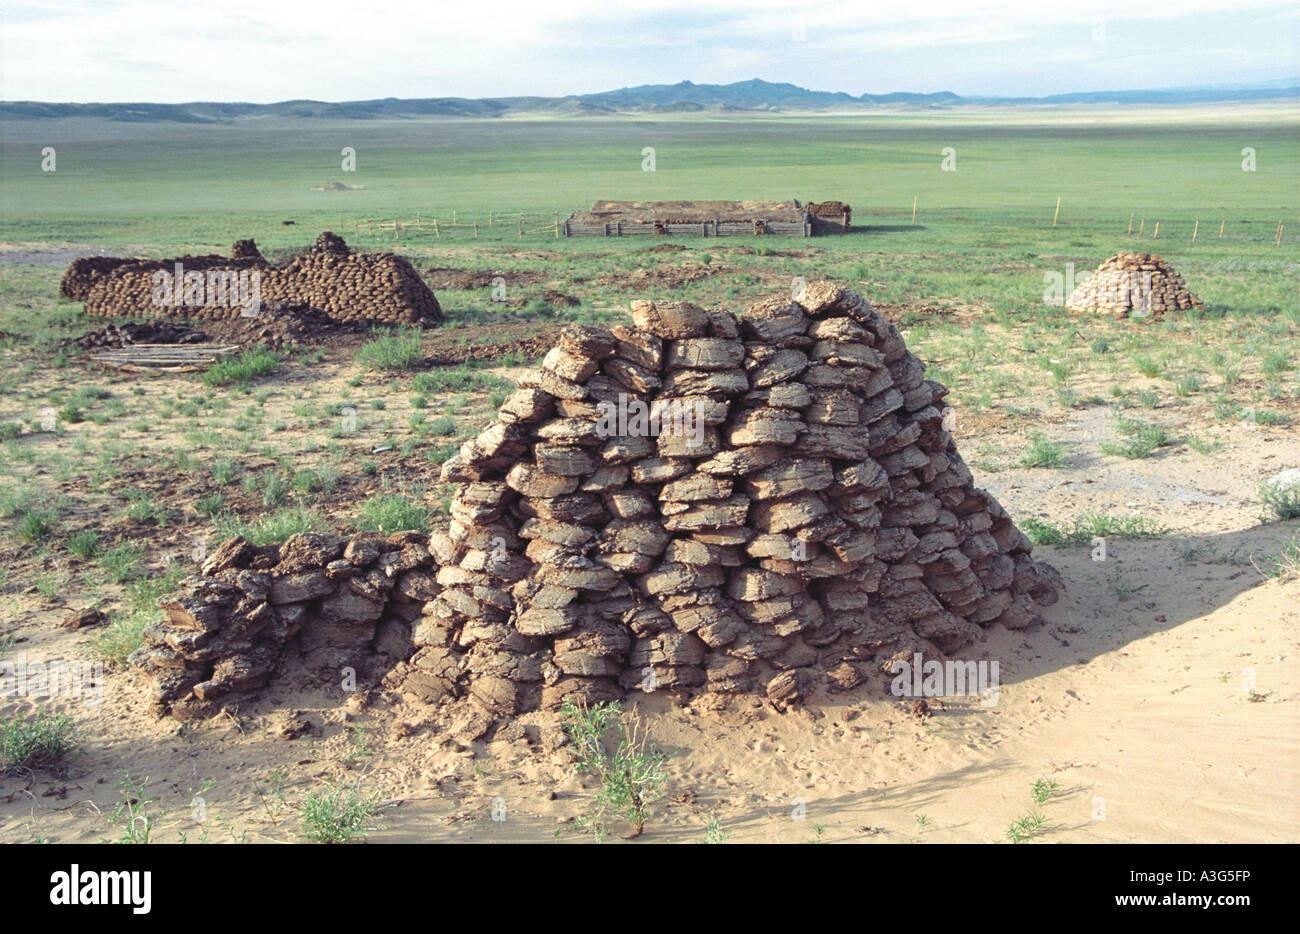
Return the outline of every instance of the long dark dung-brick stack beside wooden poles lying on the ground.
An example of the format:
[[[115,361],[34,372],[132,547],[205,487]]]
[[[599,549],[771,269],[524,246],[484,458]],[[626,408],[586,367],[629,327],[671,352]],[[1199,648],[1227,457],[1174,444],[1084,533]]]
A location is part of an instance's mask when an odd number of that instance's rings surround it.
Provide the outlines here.
[[[202,287],[187,302],[176,287],[170,302],[159,303],[159,280],[174,278],[179,264],[185,273],[200,273]],[[222,294],[211,276],[225,274],[226,286],[243,282],[242,290]],[[251,294],[250,274],[257,276],[260,308],[244,303]],[[181,256],[169,260],[78,259],[64,274],[60,291],[86,302],[88,315],[105,317],[235,319],[274,314],[281,308],[315,308],[341,324],[424,324],[442,320],[438,299],[415,268],[390,252],[363,254],[348,250],[343,239],[322,233],[307,252],[282,265],[263,259],[251,239],[238,241],[230,258]]]

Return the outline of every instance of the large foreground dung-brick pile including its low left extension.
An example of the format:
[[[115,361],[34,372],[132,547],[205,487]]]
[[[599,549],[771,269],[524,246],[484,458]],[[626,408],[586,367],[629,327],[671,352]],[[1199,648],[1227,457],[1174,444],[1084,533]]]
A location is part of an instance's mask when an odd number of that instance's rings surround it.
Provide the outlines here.
[[[503,717],[659,689],[784,706],[952,656],[1036,622],[1060,578],[974,487],[923,372],[829,284],[738,317],[633,302],[632,327],[563,329],[445,463],[446,532],[228,541],[133,662],[194,715],[296,639],[333,678],[399,656],[370,674]]]

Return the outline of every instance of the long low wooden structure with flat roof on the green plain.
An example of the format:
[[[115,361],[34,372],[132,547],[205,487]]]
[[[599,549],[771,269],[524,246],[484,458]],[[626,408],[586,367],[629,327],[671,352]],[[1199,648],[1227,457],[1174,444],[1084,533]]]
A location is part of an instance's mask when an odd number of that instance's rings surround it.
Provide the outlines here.
[[[848,230],[842,202],[608,202],[575,211],[566,237],[814,237]]]

